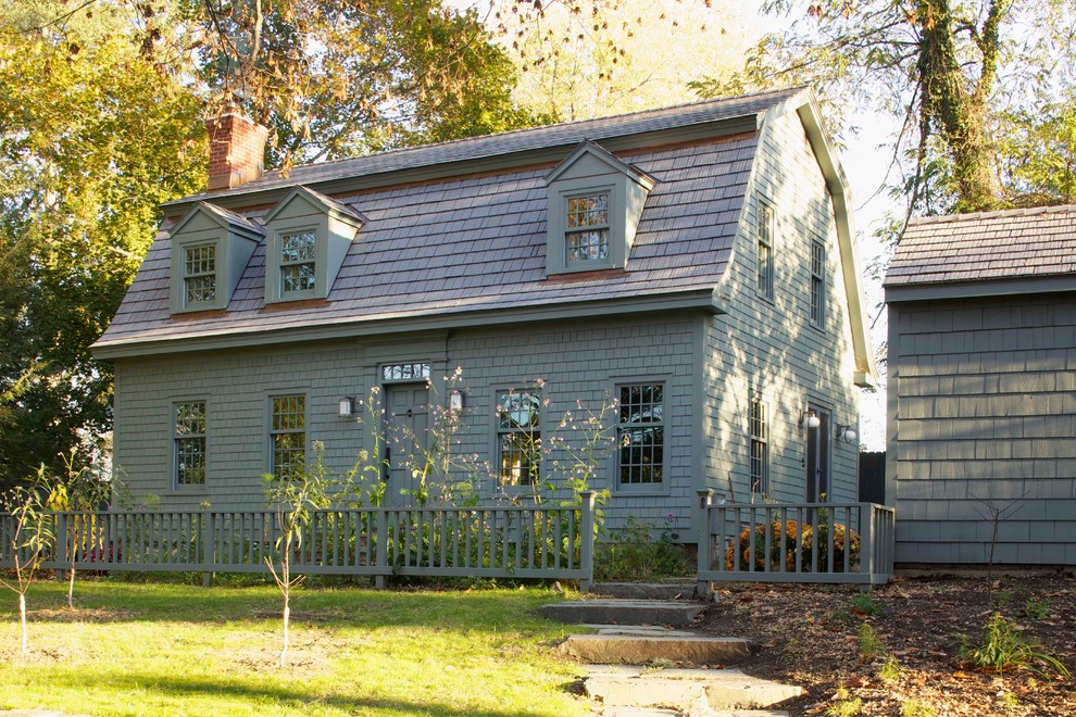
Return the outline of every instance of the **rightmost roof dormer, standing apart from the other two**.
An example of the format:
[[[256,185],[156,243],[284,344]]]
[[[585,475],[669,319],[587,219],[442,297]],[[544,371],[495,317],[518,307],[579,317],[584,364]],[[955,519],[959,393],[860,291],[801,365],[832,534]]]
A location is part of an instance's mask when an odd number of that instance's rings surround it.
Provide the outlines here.
[[[626,268],[653,177],[584,142],[546,183],[547,274]]]

